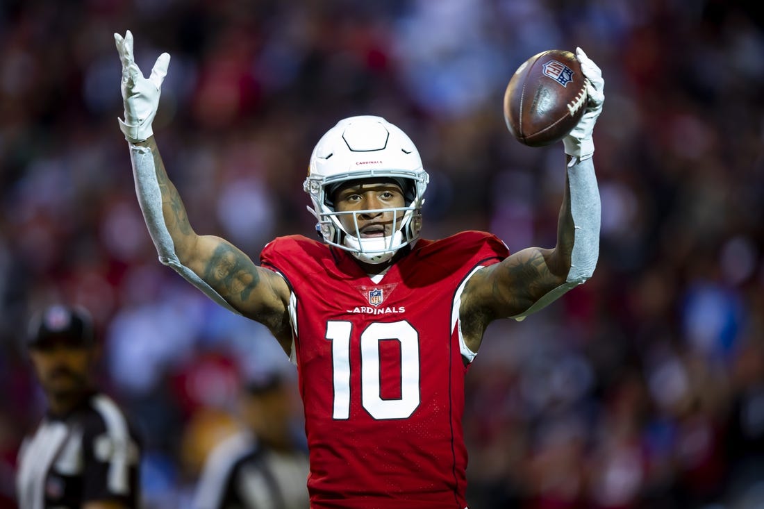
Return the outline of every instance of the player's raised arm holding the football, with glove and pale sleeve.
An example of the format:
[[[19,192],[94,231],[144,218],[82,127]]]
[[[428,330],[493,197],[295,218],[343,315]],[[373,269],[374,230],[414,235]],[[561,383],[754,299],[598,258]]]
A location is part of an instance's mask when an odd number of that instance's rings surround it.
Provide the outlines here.
[[[576,53],[589,81],[588,104],[581,121],[563,139],[568,164],[557,245],[523,249],[471,278],[462,297],[461,316],[484,317],[474,324],[481,329],[492,319],[522,319],[536,313],[588,280],[597,265],[601,206],[591,135],[602,111],[604,79],[581,48]]]

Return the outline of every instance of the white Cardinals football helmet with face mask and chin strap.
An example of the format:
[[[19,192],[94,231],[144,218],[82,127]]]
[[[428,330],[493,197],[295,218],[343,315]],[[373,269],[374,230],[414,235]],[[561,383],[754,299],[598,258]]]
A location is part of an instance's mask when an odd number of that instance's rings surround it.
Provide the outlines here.
[[[368,178],[391,178],[401,184],[406,206],[384,209],[393,212],[393,235],[361,238],[358,215],[381,210],[335,211],[332,191],[348,180]],[[310,156],[303,189],[313,203],[308,210],[319,221],[316,230],[327,244],[350,251],[360,261],[380,264],[419,238],[428,182],[419,151],[406,133],[384,118],[364,115],[344,118],[322,136]],[[354,231],[345,230],[339,216],[353,216]]]

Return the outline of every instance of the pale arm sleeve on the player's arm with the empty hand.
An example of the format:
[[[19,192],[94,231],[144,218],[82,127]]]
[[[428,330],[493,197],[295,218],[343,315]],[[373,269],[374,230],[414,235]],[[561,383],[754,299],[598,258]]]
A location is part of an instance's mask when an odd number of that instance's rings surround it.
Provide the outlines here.
[[[135,179],[135,193],[138,195],[138,203],[141,205],[148,232],[159,254],[159,261],[172,267],[174,271],[183,276],[189,283],[202,290],[207,297],[219,303],[228,310],[238,313],[220,293],[206,284],[194,271],[180,263],[175,253],[175,245],[170,231],[164,222],[162,212],[162,192],[157,180],[157,167],[154,165],[154,154],[147,147],[130,145],[130,160],[133,164],[133,177]]]

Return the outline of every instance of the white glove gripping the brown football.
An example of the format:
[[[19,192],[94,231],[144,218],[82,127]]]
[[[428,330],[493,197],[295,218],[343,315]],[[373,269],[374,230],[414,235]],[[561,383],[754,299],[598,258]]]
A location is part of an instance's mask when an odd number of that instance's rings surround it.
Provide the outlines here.
[[[586,56],[580,47],[575,49],[575,56],[581,63],[581,71],[588,79],[586,87],[588,99],[581,120],[565,138],[562,138],[562,143],[565,144],[565,154],[573,157],[571,163],[574,164],[588,159],[594,154],[594,141],[591,139],[591,134],[594,131],[597,117],[602,112],[602,103],[605,100],[605,80],[602,78],[602,70],[591,58]]]

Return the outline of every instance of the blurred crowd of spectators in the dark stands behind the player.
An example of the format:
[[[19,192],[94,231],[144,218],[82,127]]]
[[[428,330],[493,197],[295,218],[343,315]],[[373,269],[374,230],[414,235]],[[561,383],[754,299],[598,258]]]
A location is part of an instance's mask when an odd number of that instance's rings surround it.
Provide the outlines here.
[[[154,132],[199,233],[257,259],[312,235],[320,135],[381,115],[431,176],[423,236],[552,247],[562,144],[502,116],[517,66],[582,47],[605,77],[594,277],[494,323],[468,374],[470,507],[764,507],[764,21],[735,0],[3,0],[0,507],[42,409],[29,313],[91,310],[102,384],[141,426],[147,507],[187,507],[239,387],[293,366],[157,261],[118,129],[113,33],[171,54]],[[295,423],[299,427],[299,422]]]

